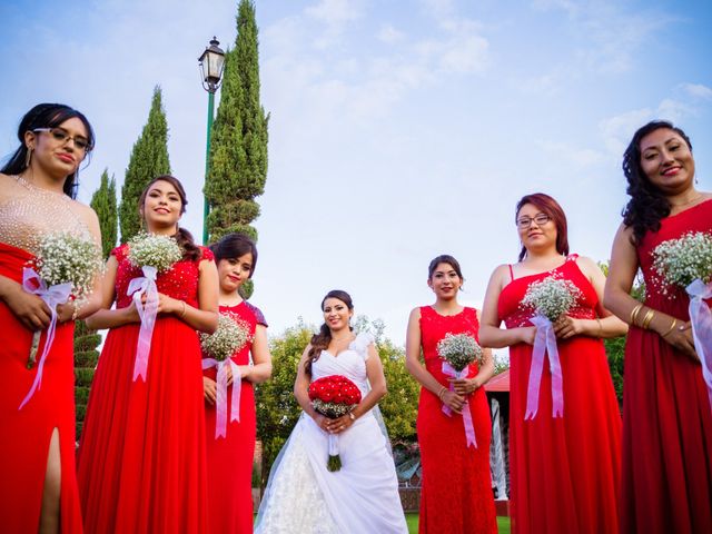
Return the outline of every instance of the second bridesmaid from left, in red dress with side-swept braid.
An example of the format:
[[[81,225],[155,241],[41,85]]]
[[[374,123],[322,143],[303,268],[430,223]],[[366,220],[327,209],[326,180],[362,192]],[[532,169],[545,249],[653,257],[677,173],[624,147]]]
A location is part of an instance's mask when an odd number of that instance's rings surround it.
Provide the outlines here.
[[[171,176],[141,195],[149,233],[175,236],[181,260],[156,280],[158,318],[146,379],[134,380],[140,318],[127,288],[142,276],[115,248],[103,279],[103,308],[87,320],[110,328],[89,396],[79,447],[79,491],[89,533],[208,532],[200,332],[217,327],[212,253],[178,227],[186,194]],[[116,303],[116,309],[111,305]]]

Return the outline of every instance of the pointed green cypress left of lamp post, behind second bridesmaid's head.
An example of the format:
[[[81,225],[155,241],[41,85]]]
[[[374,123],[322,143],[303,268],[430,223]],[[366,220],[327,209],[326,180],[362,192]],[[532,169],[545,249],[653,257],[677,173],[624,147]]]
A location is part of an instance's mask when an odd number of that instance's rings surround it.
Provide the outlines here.
[[[141,228],[138,199],[144,188],[157,176],[169,174],[168,122],[161,90],[159,86],[156,86],[148,121],[134,145],[121,187],[121,205],[119,207],[121,243],[128,241]]]

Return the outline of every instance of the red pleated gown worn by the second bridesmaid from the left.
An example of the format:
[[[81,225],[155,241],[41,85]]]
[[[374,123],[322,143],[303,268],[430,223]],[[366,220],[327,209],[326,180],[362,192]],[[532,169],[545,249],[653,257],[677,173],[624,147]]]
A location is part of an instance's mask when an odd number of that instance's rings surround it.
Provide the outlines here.
[[[118,260],[117,307],[129,306],[129,281],[142,276]],[[160,273],[158,291],[198,306],[199,263],[181,260]],[[159,316],[146,382],[134,382],[139,324],[106,338],[79,447],[79,491],[88,533],[205,533],[207,466],[200,344],[174,315]]]

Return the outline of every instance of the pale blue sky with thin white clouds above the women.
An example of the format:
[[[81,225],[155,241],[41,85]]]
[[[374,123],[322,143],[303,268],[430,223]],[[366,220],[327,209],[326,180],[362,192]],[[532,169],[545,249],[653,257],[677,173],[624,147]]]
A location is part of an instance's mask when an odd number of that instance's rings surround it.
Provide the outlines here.
[[[40,101],[83,111],[120,184],[162,87],[174,174],[201,234],[207,93],[197,57],[235,41],[236,1],[17,1],[0,4],[0,155]],[[572,249],[604,260],[626,201],[621,154],[653,118],[692,138],[712,189],[712,7],[708,1],[257,1],[269,174],[255,222],[253,301],[273,333],[320,320],[322,296],[352,293],[402,343],[432,300],[429,259],[462,263],[463,301],[516,260],[514,205],[545,191]]]

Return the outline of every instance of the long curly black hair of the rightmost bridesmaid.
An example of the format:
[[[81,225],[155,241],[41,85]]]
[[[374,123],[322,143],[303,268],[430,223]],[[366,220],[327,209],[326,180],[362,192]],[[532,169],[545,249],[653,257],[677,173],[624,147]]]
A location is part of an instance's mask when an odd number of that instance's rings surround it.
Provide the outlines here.
[[[623,224],[633,227],[633,243],[637,244],[646,231],[657,231],[660,221],[670,215],[670,200],[657,187],[651,184],[641,166],[641,140],[661,128],[674,131],[684,139],[692,152],[690,138],[680,128],[666,120],[653,120],[633,134],[630,145],[623,152],[623,174],[627,180],[627,192],[631,196],[623,209]]]

